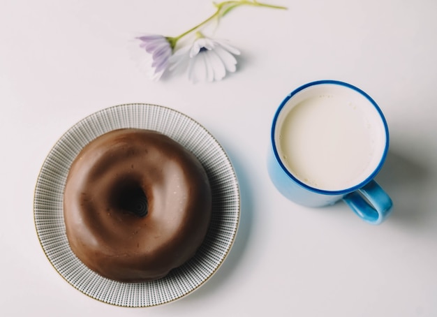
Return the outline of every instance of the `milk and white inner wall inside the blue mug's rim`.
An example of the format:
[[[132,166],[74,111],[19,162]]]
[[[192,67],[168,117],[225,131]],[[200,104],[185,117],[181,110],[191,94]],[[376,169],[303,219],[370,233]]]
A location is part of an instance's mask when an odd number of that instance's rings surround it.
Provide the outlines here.
[[[275,138],[292,175],[326,191],[348,189],[369,177],[386,142],[376,108],[357,91],[330,84],[293,96],[278,117]]]

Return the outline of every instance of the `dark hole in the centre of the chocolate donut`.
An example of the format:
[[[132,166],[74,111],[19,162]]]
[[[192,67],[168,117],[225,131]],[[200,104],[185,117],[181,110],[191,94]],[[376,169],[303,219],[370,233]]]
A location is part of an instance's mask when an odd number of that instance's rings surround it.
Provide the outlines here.
[[[136,182],[123,182],[117,186],[112,196],[113,205],[123,211],[144,217],[148,212],[147,197]]]

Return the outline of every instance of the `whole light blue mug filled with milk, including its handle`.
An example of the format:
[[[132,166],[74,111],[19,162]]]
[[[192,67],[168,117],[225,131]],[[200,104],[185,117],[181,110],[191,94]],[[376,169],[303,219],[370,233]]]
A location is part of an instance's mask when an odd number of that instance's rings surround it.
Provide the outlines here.
[[[368,94],[346,82],[320,80],[279,105],[267,168],[289,200],[308,207],[343,200],[364,221],[379,224],[393,205],[374,180],[388,147],[387,121]]]

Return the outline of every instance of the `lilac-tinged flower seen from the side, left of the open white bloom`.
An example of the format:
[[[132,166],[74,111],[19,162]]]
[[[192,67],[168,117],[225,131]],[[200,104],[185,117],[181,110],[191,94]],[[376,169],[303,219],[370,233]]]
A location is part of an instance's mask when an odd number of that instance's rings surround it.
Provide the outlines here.
[[[151,80],[159,80],[168,67],[168,61],[172,55],[172,46],[169,38],[161,35],[146,35],[137,38],[147,54],[142,60],[142,66],[147,70],[147,77]]]

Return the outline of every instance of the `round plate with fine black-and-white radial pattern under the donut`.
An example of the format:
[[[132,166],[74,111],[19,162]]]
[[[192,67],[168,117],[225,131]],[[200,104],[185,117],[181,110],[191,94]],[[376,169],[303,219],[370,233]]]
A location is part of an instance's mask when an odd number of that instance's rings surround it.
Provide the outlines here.
[[[145,128],[168,135],[198,157],[212,187],[212,221],[205,241],[191,260],[156,281],[121,283],[101,277],[75,256],[66,237],[63,197],[71,163],[91,140],[118,128]],[[122,307],[165,304],[198,289],[228,255],[239,216],[237,177],[221,145],[190,117],[160,105],[117,105],[79,121],[45,158],[34,195],[36,233],[55,270],[85,295]]]

